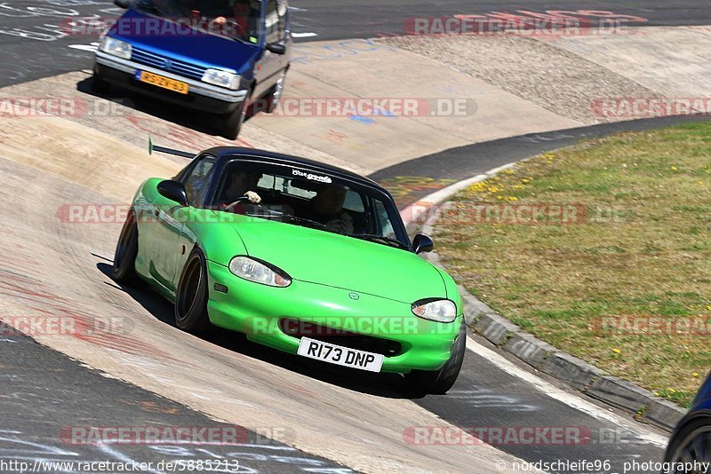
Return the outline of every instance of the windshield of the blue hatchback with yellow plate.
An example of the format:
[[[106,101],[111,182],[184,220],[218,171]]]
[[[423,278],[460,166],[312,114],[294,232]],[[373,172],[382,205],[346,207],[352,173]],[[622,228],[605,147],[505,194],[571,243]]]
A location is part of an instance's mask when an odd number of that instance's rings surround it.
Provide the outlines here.
[[[191,28],[259,43],[260,0],[137,0],[134,8]]]

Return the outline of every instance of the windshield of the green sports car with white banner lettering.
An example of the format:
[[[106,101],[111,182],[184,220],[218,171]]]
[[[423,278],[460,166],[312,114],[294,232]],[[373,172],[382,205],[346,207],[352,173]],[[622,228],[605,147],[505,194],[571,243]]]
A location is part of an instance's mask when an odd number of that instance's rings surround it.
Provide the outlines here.
[[[387,196],[323,172],[235,160],[225,168],[215,196],[219,210],[410,247]]]

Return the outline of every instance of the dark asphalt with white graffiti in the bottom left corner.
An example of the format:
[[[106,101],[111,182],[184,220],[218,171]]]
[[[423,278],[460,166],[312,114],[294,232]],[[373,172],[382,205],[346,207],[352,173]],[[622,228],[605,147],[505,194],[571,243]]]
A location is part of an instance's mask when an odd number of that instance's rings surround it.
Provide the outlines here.
[[[171,462],[178,466],[173,471],[182,466],[189,472],[197,471],[188,469],[190,462],[199,461],[217,472],[352,472],[273,441],[265,436],[267,431],[219,423],[169,399],[109,379],[26,336],[0,337],[0,360],[0,471],[4,473],[21,472],[20,462],[28,463],[25,472],[30,468],[75,473],[126,470],[117,465],[85,470],[80,462],[144,463],[147,469],[140,472],[147,473],[170,472],[166,465]],[[135,434],[112,444],[118,429]],[[151,429],[163,431],[160,438],[147,442]],[[178,434],[181,429],[185,435]],[[194,442],[171,443],[176,435]],[[109,443],[97,443],[98,437]],[[279,437],[288,442],[290,432],[279,431]]]

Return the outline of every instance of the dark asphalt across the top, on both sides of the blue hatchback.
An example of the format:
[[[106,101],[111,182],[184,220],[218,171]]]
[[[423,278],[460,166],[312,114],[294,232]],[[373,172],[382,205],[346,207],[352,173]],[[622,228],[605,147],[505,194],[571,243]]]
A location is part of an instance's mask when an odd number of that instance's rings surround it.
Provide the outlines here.
[[[566,11],[593,24],[600,18],[599,11],[613,12],[620,19],[629,17],[628,25],[711,23],[711,9],[694,0],[630,0],[624,4],[612,0],[367,0],[334,5],[332,0],[292,2],[292,30],[299,36],[297,41],[402,35],[408,18],[455,14],[491,17],[492,12],[535,18],[546,12]],[[4,56],[0,87],[91,67],[92,48],[98,37],[69,35],[68,22],[77,17],[113,18],[119,12],[114,4],[99,0],[0,2],[0,50]]]

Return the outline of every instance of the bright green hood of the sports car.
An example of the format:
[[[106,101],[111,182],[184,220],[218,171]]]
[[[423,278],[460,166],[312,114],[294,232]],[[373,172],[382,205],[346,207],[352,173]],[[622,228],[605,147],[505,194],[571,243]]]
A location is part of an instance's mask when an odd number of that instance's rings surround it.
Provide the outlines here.
[[[295,280],[408,304],[447,296],[435,266],[408,250],[267,220],[234,228],[250,257],[276,265]]]

